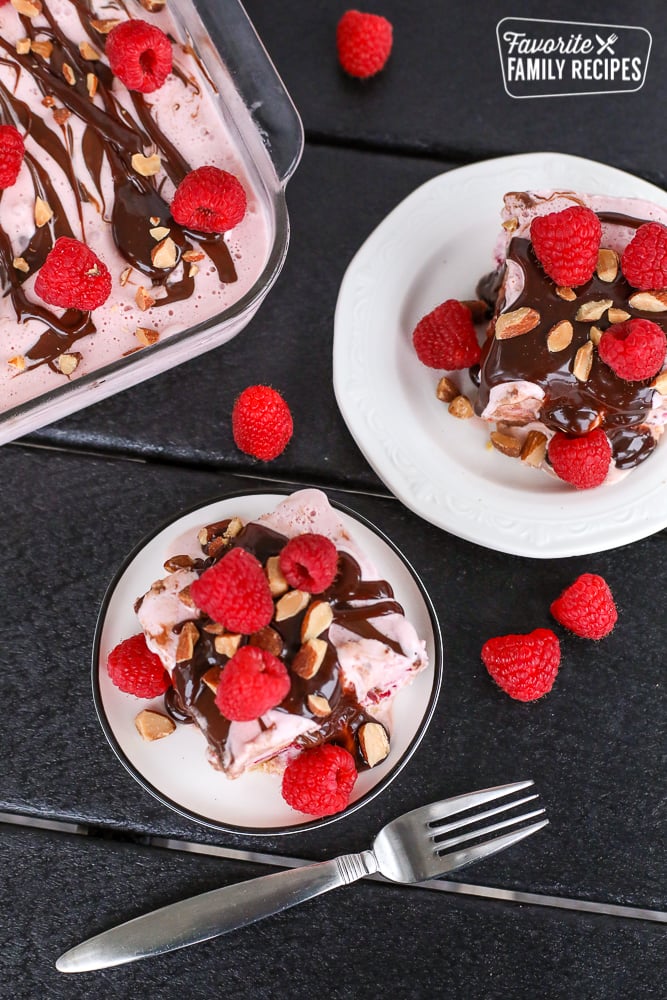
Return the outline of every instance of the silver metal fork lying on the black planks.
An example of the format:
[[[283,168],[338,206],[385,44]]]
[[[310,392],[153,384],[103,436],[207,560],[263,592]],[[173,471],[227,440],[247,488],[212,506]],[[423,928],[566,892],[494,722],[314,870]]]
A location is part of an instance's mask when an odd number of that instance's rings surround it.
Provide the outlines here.
[[[89,938],[61,955],[56,968],[60,972],[90,972],[175,951],[245,927],[262,917],[280,913],[376,872],[393,882],[410,883],[437,878],[463,868],[473,861],[504,851],[546,826],[549,820],[542,819],[511,832],[491,836],[499,830],[518,827],[520,823],[541,816],[544,809],[534,809],[479,826],[483,820],[533,801],[538,797],[536,794],[483,812],[471,812],[532,784],[532,781],[518,781],[431,802],[388,823],[380,830],[370,851],[345,854],[331,861],[264,875],[172,903]],[[463,815],[465,813],[468,815]],[[444,822],[453,816],[459,818]],[[465,832],[449,836],[455,830],[464,831],[466,827]]]

